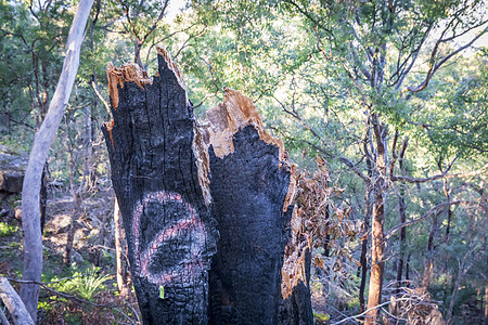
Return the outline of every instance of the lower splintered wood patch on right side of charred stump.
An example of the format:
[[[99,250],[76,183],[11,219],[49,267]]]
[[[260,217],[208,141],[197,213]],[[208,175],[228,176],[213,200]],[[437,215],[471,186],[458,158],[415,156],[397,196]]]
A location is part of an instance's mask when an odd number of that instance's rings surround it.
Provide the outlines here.
[[[311,251],[311,236],[304,232],[303,219],[298,207],[292,212],[292,238],[285,247],[283,266],[281,268],[281,296],[283,299],[293,294],[293,288],[300,282],[307,285],[306,257]]]

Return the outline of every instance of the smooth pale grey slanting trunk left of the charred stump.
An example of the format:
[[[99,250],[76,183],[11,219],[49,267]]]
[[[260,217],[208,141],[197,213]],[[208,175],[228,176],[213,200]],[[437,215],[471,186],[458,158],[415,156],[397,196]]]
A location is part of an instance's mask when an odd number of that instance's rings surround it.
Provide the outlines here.
[[[24,281],[41,281],[42,274],[42,236],[40,232],[39,193],[42,169],[48,157],[49,147],[56,134],[69,101],[75,77],[78,72],[79,53],[84,40],[84,30],[93,0],[80,0],[69,29],[66,56],[56,90],[49,105],[48,114],[39,131],[36,132],[29,162],[24,177],[22,191],[22,226],[24,231]],[[37,320],[39,285],[23,284],[21,298],[33,317]]]

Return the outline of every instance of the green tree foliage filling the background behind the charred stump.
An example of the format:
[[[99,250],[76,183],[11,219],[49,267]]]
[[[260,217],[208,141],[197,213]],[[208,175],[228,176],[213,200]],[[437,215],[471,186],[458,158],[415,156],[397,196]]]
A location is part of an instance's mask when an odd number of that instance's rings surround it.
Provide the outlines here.
[[[433,55],[437,38],[442,32],[445,38],[450,38],[479,24],[486,1],[474,0],[468,5],[458,0],[189,2],[185,12],[172,21],[163,17],[147,36],[141,52],[144,67],[154,74],[154,47],[168,49],[184,75],[190,100],[194,105],[202,103],[195,108],[200,118],[222,99],[224,87],[251,96],[266,127],[285,141],[293,162],[313,172],[317,154],[328,160],[331,184],[341,183],[346,188],[331,204],[351,222],[359,224],[363,220],[368,187],[342,158],[352,161],[363,176],[371,172],[374,177],[377,172],[374,166],[371,171],[367,165],[365,148],[370,153],[375,151],[372,114],[380,116],[385,126],[387,164],[394,161],[391,147],[396,132],[399,134],[397,154],[401,142],[409,139],[403,167],[398,168],[397,160],[394,168],[397,176],[426,178],[441,172],[439,168],[445,171],[450,165],[449,174],[454,174],[486,165],[486,48],[478,49],[476,55],[451,57],[422,91],[407,89],[422,84],[429,65],[438,64],[458,47],[454,39],[442,41]],[[70,165],[75,187],[84,184],[86,157],[91,166],[93,191],[100,184],[110,183],[100,126],[111,114],[94,93],[93,84],[108,100],[106,64],[133,61],[134,38],[150,30],[164,1],[124,3],[127,8],[121,1],[98,1],[90,16],[74,93],[48,159],[51,179],[65,185]],[[393,6],[388,8],[388,3]],[[59,0],[0,2],[0,144],[29,150],[57,82],[75,5],[76,1]],[[368,77],[373,72],[377,76],[374,80]],[[399,223],[400,195],[406,200],[408,220],[413,220],[448,199],[483,204],[484,193],[486,172],[468,179],[446,179],[446,183],[441,179],[419,185],[388,181],[385,231]],[[441,275],[429,289],[446,307],[458,274],[457,257],[465,256],[473,243],[486,243],[487,232],[479,206],[460,205],[451,207],[451,211],[449,237],[444,207],[436,214],[437,229],[433,230],[432,217],[407,227],[404,251],[410,256],[411,274],[416,276],[413,280],[419,281],[429,235],[435,234],[435,260],[444,264],[436,264]],[[321,222],[339,226],[336,217]],[[0,237],[17,234],[15,226],[0,223]],[[314,244],[321,239],[323,236]],[[329,259],[331,268],[341,260],[348,273],[355,273],[354,260],[359,260],[360,243],[341,240],[334,247],[341,258]],[[399,256],[399,234],[388,240],[387,247],[386,268],[390,268]],[[473,260],[463,280],[466,290],[457,298],[460,304],[468,301],[473,296],[471,288],[479,287],[480,274],[486,274],[483,261],[487,252],[473,247],[473,255],[466,256]],[[11,249],[2,257],[13,259],[16,251]],[[54,274],[61,276],[56,271],[59,256],[46,250],[44,257],[43,281],[56,280]],[[112,264],[113,256],[104,251],[102,262]],[[91,300],[110,278],[97,270],[85,274],[78,266],[63,272],[74,277],[54,286]],[[395,272],[388,270],[385,281],[394,277]],[[335,301],[356,310],[359,278],[339,276],[334,284],[336,289],[325,294],[335,295],[338,298]],[[337,289],[341,286],[344,291]],[[42,303],[47,309],[49,303]],[[461,308],[457,307],[455,312],[460,313]]]

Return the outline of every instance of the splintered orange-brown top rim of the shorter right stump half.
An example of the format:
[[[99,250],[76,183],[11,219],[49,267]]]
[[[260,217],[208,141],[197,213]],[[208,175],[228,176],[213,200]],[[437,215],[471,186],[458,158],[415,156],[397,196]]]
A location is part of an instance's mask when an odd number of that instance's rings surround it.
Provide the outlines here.
[[[223,101],[207,110],[206,119],[201,122],[200,130],[207,133],[207,145],[213,146],[215,155],[223,158],[234,152],[234,134],[247,126],[253,126],[258,131],[259,138],[267,144],[278,146],[280,168],[291,170],[288,191],[283,203],[283,212],[286,212],[296,191],[295,168],[286,161],[283,141],[266,131],[259,110],[251,99],[236,90],[224,88]]]

